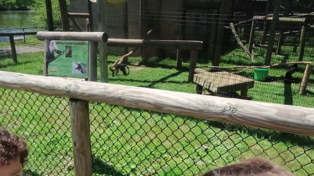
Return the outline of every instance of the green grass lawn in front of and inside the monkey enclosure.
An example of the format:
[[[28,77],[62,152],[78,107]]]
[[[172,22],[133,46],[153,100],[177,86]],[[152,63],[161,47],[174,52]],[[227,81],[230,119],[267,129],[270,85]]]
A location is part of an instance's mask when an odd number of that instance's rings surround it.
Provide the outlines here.
[[[310,47],[305,59],[312,60]],[[264,49],[256,49],[256,62],[263,62]],[[289,60],[295,60],[291,54]],[[235,60],[241,58],[241,61]],[[272,62],[280,62],[273,57]],[[0,58],[0,70],[42,75],[43,52],[19,54],[19,64],[10,57]],[[109,63],[116,56],[108,56]],[[138,58],[129,58],[135,62]],[[195,92],[187,83],[187,72],[165,68],[175,61],[165,59],[148,67],[131,67],[131,74],[116,77],[110,83]],[[199,61],[198,66],[207,63]],[[221,66],[249,65],[241,49],[224,54]],[[182,65],[188,65],[184,60]],[[208,64],[207,64],[208,65]],[[301,67],[302,68],[302,67]],[[304,67],[303,67],[304,68]],[[283,79],[287,67],[274,68],[268,82],[255,81],[248,96],[254,101],[314,107],[314,77],[308,92],[300,96],[298,84],[291,95],[284,93]],[[252,77],[253,70],[243,73]],[[295,73],[296,80],[303,73]],[[68,99],[0,89],[0,125],[27,137],[31,152],[26,172],[30,175],[73,175],[73,153]],[[292,96],[287,100],[287,97]],[[143,111],[107,104],[90,103],[90,132],[94,175],[195,175],[208,168],[224,166],[245,157],[261,155],[285,165],[298,175],[314,174],[314,140],[263,129]],[[204,150],[201,146],[208,147]]]

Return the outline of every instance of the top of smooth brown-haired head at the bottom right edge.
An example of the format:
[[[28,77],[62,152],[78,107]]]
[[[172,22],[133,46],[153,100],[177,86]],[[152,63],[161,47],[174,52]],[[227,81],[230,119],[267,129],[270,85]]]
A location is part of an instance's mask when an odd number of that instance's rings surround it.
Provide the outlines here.
[[[213,169],[203,176],[295,176],[267,159],[251,158],[233,165]]]

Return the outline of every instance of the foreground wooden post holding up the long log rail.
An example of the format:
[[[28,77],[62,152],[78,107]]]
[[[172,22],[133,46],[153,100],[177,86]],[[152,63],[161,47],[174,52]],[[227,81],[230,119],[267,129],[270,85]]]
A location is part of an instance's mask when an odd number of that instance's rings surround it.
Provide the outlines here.
[[[89,102],[69,99],[75,176],[92,175]]]

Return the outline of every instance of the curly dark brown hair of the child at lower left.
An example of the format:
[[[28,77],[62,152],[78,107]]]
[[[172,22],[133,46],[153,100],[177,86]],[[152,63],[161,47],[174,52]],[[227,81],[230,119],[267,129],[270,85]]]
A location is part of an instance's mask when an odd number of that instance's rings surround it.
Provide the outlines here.
[[[26,142],[18,136],[10,135],[8,130],[0,127],[0,164],[8,165],[10,160],[20,157],[20,163],[24,166],[27,156]]]

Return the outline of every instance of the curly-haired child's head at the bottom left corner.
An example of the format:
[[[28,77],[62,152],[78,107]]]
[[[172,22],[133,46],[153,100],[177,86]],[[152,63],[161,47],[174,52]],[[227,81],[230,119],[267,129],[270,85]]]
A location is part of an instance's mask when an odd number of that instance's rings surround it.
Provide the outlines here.
[[[22,176],[27,156],[26,142],[0,127],[0,175]]]

